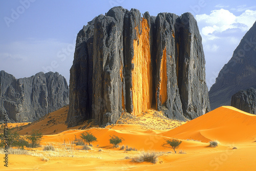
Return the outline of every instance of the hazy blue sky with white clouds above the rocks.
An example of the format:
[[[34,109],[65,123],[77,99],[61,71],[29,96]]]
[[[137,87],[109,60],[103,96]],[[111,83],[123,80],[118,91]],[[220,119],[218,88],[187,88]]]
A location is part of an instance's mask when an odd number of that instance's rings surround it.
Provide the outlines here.
[[[192,13],[203,39],[208,89],[256,20],[256,0],[0,0],[0,71],[16,78],[53,71],[69,82],[77,33],[114,6],[154,16]]]

